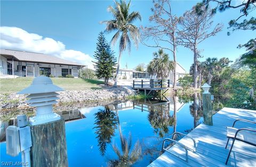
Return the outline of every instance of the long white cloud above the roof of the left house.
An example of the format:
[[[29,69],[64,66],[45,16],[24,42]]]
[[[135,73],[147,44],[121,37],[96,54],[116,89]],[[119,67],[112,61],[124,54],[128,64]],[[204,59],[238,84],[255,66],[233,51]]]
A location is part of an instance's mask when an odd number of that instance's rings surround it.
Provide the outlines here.
[[[0,27],[0,33],[0,47],[3,49],[44,53],[84,64],[93,69],[92,57],[80,51],[66,49],[61,41],[29,33],[18,27]]]

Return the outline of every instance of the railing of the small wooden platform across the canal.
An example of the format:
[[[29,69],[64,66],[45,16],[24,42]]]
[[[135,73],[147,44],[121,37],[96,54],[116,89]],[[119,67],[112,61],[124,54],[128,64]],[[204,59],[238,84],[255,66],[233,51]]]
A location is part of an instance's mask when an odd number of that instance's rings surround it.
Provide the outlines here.
[[[170,79],[133,80],[133,88],[169,88]]]

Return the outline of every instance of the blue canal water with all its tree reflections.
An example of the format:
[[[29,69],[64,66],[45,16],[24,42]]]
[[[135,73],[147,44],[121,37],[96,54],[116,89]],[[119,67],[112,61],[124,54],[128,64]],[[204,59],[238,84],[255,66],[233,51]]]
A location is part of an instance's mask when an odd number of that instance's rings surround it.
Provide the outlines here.
[[[69,166],[147,166],[161,155],[162,141],[175,131],[188,133],[203,123],[202,101],[178,97],[164,101],[126,101],[62,111],[66,120]],[[6,155],[1,123],[1,163],[20,162]],[[179,138],[179,137],[178,137]]]

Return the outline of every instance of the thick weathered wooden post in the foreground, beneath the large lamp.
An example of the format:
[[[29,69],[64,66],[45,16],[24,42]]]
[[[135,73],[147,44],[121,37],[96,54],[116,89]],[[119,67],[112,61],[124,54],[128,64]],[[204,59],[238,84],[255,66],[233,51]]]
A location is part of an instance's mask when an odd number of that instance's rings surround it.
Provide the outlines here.
[[[31,126],[31,166],[68,166],[65,120]]]

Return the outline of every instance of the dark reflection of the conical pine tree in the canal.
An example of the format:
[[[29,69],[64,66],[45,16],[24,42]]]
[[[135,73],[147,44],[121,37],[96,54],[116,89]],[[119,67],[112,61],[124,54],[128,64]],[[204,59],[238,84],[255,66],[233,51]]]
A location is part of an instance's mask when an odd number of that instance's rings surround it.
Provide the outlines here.
[[[105,106],[104,110],[99,109],[99,112],[94,114],[96,125],[93,129],[96,129],[95,134],[98,139],[98,147],[101,155],[106,152],[107,144],[111,143],[111,138],[114,136],[116,123],[116,114]]]

